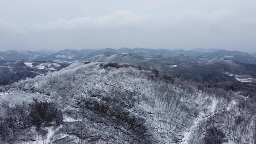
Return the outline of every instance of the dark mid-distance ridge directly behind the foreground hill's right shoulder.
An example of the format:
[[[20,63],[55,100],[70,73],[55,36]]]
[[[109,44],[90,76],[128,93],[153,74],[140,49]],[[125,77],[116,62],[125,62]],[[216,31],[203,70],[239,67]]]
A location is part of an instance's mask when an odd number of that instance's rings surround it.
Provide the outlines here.
[[[256,65],[239,63],[229,59],[207,59],[180,54],[165,54],[162,56],[138,56],[135,54],[99,54],[86,59],[92,62],[127,63],[135,66],[155,68],[158,71],[169,73],[173,76],[183,77],[197,81],[236,81],[227,73],[246,76],[256,79]],[[175,67],[174,67],[175,65]]]

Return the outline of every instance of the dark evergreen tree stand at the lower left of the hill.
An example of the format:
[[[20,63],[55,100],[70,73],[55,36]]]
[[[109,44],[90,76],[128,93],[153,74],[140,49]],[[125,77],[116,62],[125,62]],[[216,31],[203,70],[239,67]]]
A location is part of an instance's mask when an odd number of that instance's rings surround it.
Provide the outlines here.
[[[58,110],[53,102],[38,102],[34,99],[28,106],[16,107],[19,110],[18,115],[13,113],[7,118],[0,117],[0,136],[3,141],[15,140],[19,131],[33,125],[39,130],[45,122],[55,122],[55,126],[59,126],[63,121],[61,110]]]

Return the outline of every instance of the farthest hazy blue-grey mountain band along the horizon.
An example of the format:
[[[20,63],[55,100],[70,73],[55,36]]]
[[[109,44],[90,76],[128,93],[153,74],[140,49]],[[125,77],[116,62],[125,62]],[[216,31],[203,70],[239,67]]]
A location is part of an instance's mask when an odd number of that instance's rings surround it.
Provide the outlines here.
[[[256,54],[248,54],[239,51],[227,51],[219,49],[192,49],[192,50],[167,50],[167,49],[147,49],[147,48],[119,48],[111,49],[104,48],[101,50],[93,49],[65,49],[56,53],[50,51],[6,51],[0,52],[0,60],[17,61],[17,60],[47,60],[47,61],[81,61],[87,59],[93,59],[93,57],[99,55],[110,56],[113,54],[134,54],[143,57],[157,57],[164,55],[184,55],[184,56],[198,56],[201,58],[213,59],[213,58],[225,58],[234,60],[241,63],[256,64]]]

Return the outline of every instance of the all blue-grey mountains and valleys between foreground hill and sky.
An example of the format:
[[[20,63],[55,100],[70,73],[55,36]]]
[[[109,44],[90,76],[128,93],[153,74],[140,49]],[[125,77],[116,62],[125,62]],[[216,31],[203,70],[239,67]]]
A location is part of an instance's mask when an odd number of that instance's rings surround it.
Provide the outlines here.
[[[0,65],[3,66],[2,69],[5,69],[5,71],[1,72],[12,72],[13,66],[11,65],[13,65],[15,61],[25,63],[25,65],[19,64],[18,67],[27,67],[26,70],[29,72],[36,72],[34,75],[46,73],[51,71],[51,69],[59,70],[54,67],[52,68],[51,65],[54,63],[66,63],[62,66],[65,67],[77,61],[91,61],[143,66],[168,73],[169,75],[197,81],[256,80],[256,54],[219,49],[197,48],[192,50],[166,50],[147,48],[104,48],[101,50],[65,49],[55,53],[51,51],[6,51],[0,52],[0,62],[3,63]],[[44,66],[42,69],[40,69],[40,63]],[[48,66],[49,63],[50,66]],[[11,67],[12,69],[10,69]],[[42,70],[44,71],[42,72]],[[24,76],[22,76],[22,78],[23,77]]]

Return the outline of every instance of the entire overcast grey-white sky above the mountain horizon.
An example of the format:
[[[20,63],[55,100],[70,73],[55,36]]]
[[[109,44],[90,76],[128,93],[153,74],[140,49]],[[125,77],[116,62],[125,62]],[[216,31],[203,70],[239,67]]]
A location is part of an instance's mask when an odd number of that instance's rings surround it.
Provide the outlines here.
[[[256,52],[256,0],[0,0],[0,50]]]

